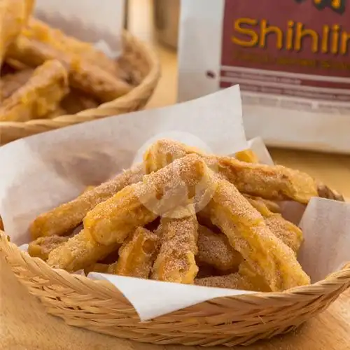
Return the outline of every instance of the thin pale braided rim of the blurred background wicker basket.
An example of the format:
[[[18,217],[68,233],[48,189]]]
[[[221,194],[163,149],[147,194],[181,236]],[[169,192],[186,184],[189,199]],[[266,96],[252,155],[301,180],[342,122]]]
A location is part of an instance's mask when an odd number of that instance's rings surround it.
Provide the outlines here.
[[[119,97],[116,100],[113,100],[111,102],[105,102],[103,104],[100,104],[95,109],[85,109],[84,111],[80,111],[76,114],[65,114],[62,116],[58,116],[56,118],[52,119],[34,119],[34,120],[28,120],[26,122],[13,122],[13,121],[0,121],[0,125],[6,125],[6,126],[23,126],[26,125],[45,125],[45,123],[55,123],[55,122],[69,122],[72,117],[89,117],[89,116],[98,116],[99,113],[106,109],[114,109],[116,101],[118,101],[118,104],[124,105],[124,104],[130,104],[138,95],[141,93],[141,91],[144,88],[144,85],[151,84],[153,81],[158,80],[160,77],[160,61],[158,59],[158,56],[155,54],[154,50],[146,45],[143,41],[139,40],[136,36],[133,36],[130,32],[124,30],[123,31],[123,38],[125,41],[133,41],[144,54],[144,59],[146,59],[147,62],[149,62],[151,66],[151,70],[148,72],[147,76],[142,80],[142,82],[134,87],[130,92],[127,94]]]

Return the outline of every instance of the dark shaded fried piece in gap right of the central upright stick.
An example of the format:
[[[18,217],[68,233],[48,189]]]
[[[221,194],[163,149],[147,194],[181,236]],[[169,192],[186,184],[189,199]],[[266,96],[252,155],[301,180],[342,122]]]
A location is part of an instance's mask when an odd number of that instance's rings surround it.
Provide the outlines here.
[[[235,251],[223,233],[215,233],[203,225],[198,228],[198,255],[199,265],[210,265],[221,271],[238,269],[241,263],[241,254]]]

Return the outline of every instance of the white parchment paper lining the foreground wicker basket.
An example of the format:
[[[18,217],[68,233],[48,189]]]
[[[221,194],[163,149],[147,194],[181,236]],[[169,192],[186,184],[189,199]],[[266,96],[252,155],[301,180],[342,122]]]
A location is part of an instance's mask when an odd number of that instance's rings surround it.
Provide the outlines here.
[[[248,148],[239,87],[185,104],[38,134],[1,147],[0,213],[6,233],[18,245],[28,243],[29,224],[38,214],[129,167],[139,160],[145,145],[160,137],[172,137],[222,155]],[[251,144],[258,154],[266,155],[261,140]],[[269,156],[261,160],[271,162]],[[349,260],[349,220],[349,204],[318,199],[309,204],[302,219],[305,244],[300,262],[313,281]],[[328,253],[332,258],[326,258]],[[214,297],[249,293],[109,274],[89,276],[111,281],[134,305],[142,321]]]

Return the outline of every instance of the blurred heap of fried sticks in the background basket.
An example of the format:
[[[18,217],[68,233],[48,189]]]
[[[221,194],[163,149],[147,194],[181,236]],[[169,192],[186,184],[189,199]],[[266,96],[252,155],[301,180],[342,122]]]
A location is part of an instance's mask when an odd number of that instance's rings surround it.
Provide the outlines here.
[[[1,1],[0,121],[78,113],[132,90],[115,59],[32,18],[33,7],[32,0]]]

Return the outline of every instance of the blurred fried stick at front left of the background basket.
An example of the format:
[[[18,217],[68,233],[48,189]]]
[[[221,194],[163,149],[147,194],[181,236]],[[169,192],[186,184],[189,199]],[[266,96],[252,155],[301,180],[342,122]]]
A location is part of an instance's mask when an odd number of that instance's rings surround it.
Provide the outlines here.
[[[1,121],[41,118],[55,109],[68,92],[66,69],[57,61],[45,62],[0,108]]]

